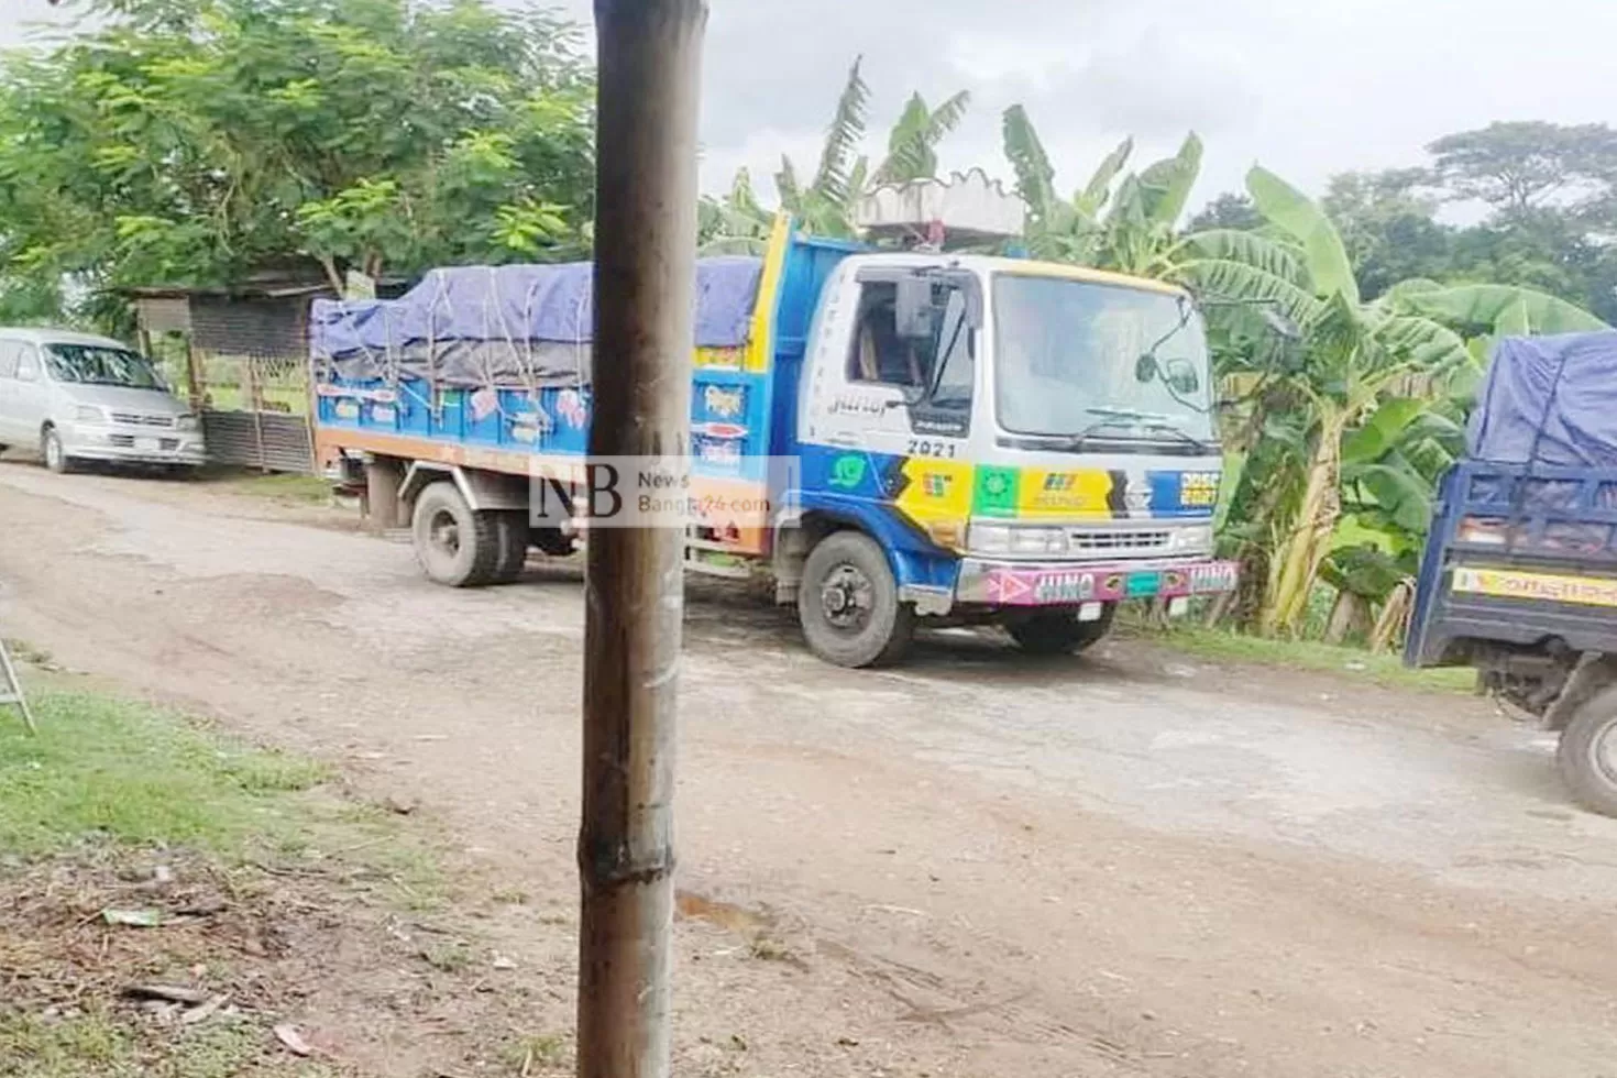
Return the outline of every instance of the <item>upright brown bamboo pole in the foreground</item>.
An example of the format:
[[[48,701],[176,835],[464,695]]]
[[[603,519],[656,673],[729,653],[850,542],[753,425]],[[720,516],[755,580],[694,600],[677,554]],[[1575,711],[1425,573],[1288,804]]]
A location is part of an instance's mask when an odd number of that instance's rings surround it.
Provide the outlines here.
[[[595,0],[590,456],[687,449],[707,0]],[[579,829],[581,1078],[669,1073],[684,528],[590,530]]]

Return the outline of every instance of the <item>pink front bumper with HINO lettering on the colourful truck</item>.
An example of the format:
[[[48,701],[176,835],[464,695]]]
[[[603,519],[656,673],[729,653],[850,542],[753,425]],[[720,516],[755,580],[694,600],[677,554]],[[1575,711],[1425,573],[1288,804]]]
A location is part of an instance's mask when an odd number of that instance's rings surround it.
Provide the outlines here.
[[[1015,562],[967,558],[956,603],[1070,606],[1122,600],[1180,598],[1235,590],[1234,561]]]

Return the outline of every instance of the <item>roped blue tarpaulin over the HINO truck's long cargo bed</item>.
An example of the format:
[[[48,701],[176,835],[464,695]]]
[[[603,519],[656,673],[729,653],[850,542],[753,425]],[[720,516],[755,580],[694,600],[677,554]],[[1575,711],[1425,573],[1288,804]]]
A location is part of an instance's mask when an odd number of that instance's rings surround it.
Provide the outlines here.
[[[762,275],[762,259],[697,262],[697,347],[747,343]],[[542,386],[589,381],[593,318],[589,262],[454,267],[398,299],[315,301],[309,347],[344,378]]]

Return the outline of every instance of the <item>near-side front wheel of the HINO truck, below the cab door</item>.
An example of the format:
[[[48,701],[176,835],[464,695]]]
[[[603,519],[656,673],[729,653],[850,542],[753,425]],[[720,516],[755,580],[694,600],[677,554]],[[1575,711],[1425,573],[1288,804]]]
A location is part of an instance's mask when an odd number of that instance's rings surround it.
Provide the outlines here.
[[[797,619],[808,650],[836,666],[889,666],[915,638],[888,556],[862,532],[833,532],[808,551]]]

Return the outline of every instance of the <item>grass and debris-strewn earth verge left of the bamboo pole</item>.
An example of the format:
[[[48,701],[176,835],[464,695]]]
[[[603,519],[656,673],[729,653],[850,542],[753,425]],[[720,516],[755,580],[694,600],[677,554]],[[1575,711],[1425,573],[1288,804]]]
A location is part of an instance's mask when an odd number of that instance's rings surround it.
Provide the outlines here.
[[[472,992],[500,966],[420,824],[16,650],[39,734],[0,708],[0,1075],[335,1078],[382,1039],[519,1073],[527,989]],[[550,1041],[521,1073],[556,1072]]]

